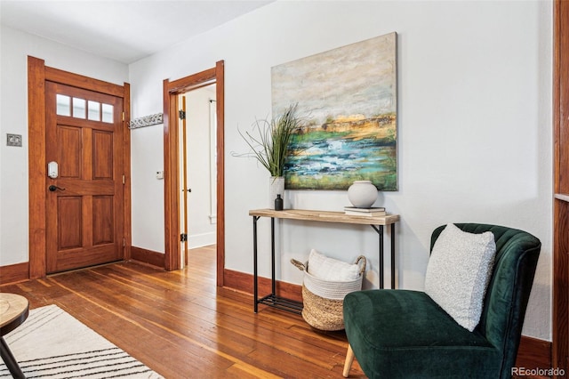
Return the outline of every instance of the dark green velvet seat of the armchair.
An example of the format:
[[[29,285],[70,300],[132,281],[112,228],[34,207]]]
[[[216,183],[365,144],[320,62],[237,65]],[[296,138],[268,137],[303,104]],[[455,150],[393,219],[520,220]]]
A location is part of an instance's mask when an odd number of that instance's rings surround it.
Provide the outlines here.
[[[371,378],[455,377],[457,369],[464,377],[500,376],[499,351],[423,292],[358,291],[346,296],[343,311],[349,344]]]

